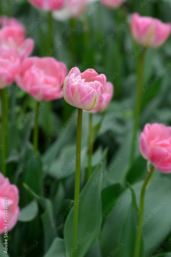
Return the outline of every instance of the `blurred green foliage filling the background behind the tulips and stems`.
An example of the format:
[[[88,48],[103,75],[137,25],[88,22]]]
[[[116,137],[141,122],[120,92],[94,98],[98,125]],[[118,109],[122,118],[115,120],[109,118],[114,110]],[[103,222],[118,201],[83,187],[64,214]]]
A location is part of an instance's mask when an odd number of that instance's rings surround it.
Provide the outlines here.
[[[140,3],[145,3],[140,5]],[[2,7],[5,6],[2,2]],[[94,6],[95,3],[92,4]],[[91,12],[91,5],[88,11]],[[128,197],[121,204],[120,200],[127,195],[130,188],[129,182],[139,205],[139,194],[142,181],[147,173],[146,161],[140,156],[139,144],[136,148],[136,160],[130,167],[130,150],[132,145],[132,131],[134,120],[134,106],[137,88],[137,69],[140,55],[137,58],[135,51],[139,49],[130,35],[130,15],[138,12],[140,15],[153,16],[163,22],[171,22],[170,0],[127,1],[123,8],[109,10],[100,5],[93,13],[85,14],[77,20],[58,22],[53,20],[53,44],[61,41],[61,37],[69,32],[70,28],[76,31],[66,39],[52,54],[59,61],[66,63],[68,71],[74,66],[86,63],[81,69],[93,68],[98,73],[104,73],[107,80],[113,82],[115,93],[105,115],[93,115],[94,126],[94,154],[93,169],[95,170],[91,180],[86,183],[87,153],[81,159],[81,204],[79,215],[79,238],[83,238],[86,232],[90,236],[85,243],[79,246],[76,257],[108,257],[111,251],[118,247],[119,243],[124,247],[117,256],[131,257],[133,255],[137,212],[135,199]],[[36,10],[28,2],[18,0],[5,14],[17,18],[26,25],[29,37],[35,40],[33,56],[46,56],[48,47],[48,14]],[[29,26],[37,17],[43,21],[33,30]],[[126,25],[115,33],[114,29],[126,20]],[[114,33],[115,36],[100,49],[106,36]],[[161,77],[158,72],[163,70],[171,61],[171,37],[158,49],[148,49],[143,75],[143,88],[149,85],[150,80],[159,77],[152,87],[143,92],[139,133],[146,123],[153,123],[158,117],[161,123],[171,125],[171,69]],[[113,79],[113,75],[119,74]],[[146,85],[147,84],[147,85]],[[8,88],[9,90],[12,87]],[[8,91],[7,89],[7,91]],[[9,93],[9,92],[8,92]],[[66,104],[64,99],[46,103],[39,113],[39,156],[26,168],[27,162],[33,153],[32,135],[34,118],[28,122],[19,132],[16,127],[27,118],[35,109],[36,103],[31,96],[17,89],[9,96],[10,123],[6,131],[8,140],[7,175],[12,183],[16,184],[20,191],[20,207],[23,208],[33,199],[36,201],[29,210],[19,218],[15,228],[9,233],[8,255],[10,257],[26,254],[25,249],[39,243],[30,256],[37,257],[62,257],[72,247],[72,215],[73,210],[65,216],[57,225],[55,223],[60,216],[71,206],[74,198],[74,173],[75,167],[71,167],[61,176],[60,171],[67,163],[75,159],[76,119],[65,126],[66,122],[77,110]],[[130,106],[124,113],[125,105]],[[123,112],[122,112],[123,111]],[[120,112],[120,114],[119,114]],[[124,114],[123,114],[124,113]],[[116,118],[117,122],[105,131],[105,126]],[[64,126],[65,130],[59,136],[52,139],[56,130]],[[88,113],[83,113],[82,148],[88,145]],[[107,149],[108,150],[107,150]],[[117,158],[122,160],[114,167]],[[97,166],[101,162],[100,166]],[[114,164],[115,165],[115,164]],[[95,167],[97,168],[95,169]],[[23,168],[22,172],[13,180],[14,174]],[[108,174],[103,181],[97,183],[100,173],[107,170]],[[93,182],[97,185],[94,186]],[[40,199],[37,194],[46,189]],[[35,197],[35,198],[34,198]],[[124,198],[125,199],[125,198]],[[171,238],[171,181],[170,175],[156,171],[152,185],[147,189],[145,199],[144,217],[152,214],[152,210],[159,206],[160,201],[166,204],[160,211],[152,215],[143,226],[142,256],[149,257],[171,256],[171,245],[163,245]],[[134,203],[134,204],[133,204]],[[117,210],[105,218],[112,207],[119,204]],[[64,240],[63,240],[64,238]],[[78,240],[79,240],[78,238]],[[3,243],[3,238],[2,238]],[[2,245],[0,246],[2,249]],[[160,253],[156,252],[160,250]],[[1,251],[3,252],[3,250]],[[167,254],[163,254],[167,252]],[[163,254],[163,255],[162,255]],[[0,256],[5,256],[1,253]],[[7,256],[7,254],[6,254]],[[156,255],[154,255],[156,256]]]

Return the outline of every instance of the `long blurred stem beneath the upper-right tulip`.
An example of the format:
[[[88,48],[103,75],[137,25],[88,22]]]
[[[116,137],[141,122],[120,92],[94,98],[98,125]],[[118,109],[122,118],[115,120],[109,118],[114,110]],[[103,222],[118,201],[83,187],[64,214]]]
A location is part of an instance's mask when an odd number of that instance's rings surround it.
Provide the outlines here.
[[[133,131],[133,142],[132,142],[132,151],[131,151],[131,163],[134,161],[135,155],[135,143],[137,136],[137,130],[139,125],[139,115],[141,110],[141,99],[142,99],[142,82],[143,82],[143,68],[144,68],[144,60],[145,60],[146,48],[142,52],[139,72],[138,72],[138,88],[136,95],[136,106],[135,106],[135,123],[134,123],[134,131]]]

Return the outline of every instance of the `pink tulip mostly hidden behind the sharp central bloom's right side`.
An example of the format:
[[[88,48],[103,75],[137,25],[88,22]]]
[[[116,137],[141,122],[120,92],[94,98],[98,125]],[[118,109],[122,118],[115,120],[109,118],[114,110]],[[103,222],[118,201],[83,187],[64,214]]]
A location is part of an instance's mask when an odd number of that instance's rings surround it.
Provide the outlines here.
[[[110,101],[112,100],[114,93],[114,87],[111,82],[106,82],[106,87],[103,93],[103,98],[105,101],[103,101],[101,104],[99,104],[96,108],[89,111],[90,113],[102,113],[106,110],[107,106],[109,105]]]

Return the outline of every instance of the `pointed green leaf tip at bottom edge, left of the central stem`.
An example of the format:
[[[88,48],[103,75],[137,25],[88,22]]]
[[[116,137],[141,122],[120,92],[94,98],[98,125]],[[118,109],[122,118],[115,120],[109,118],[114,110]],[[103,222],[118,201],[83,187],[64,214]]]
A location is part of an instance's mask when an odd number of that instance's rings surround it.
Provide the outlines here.
[[[43,257],[64,257],[65,246],[62,238],[55,238],[47,253]]]

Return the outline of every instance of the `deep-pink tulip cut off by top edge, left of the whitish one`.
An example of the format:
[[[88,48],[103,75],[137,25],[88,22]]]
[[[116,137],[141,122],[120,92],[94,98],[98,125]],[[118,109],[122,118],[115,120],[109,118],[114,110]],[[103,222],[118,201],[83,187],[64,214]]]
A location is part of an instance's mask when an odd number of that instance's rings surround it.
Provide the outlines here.
[[[29,3],[45,11],[61,9],[66,0],[28,0]]]

